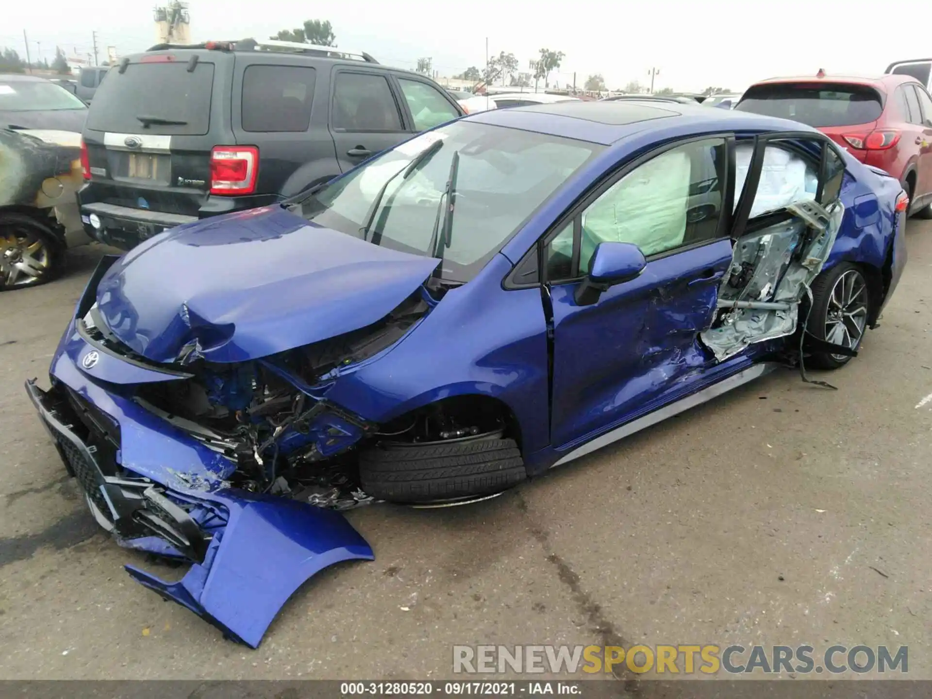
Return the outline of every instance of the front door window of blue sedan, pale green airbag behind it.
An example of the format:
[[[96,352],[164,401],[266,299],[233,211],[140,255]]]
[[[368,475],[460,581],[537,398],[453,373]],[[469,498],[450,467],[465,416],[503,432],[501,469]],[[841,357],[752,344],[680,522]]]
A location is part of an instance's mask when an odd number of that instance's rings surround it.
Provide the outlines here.
[[[725,155],[723,139],[681,145],[612,185],[583,212],[580,270],[600,242],[631,242],[648,256],[715,238]]]

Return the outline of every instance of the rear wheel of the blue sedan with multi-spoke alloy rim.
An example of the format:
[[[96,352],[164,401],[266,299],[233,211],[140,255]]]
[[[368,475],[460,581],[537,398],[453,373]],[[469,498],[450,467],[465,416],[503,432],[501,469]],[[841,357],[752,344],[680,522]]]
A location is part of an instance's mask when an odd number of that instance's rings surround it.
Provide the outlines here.
[[[809,332],[833,345],[860,347],[870,316],[870,287],[861,271],[847,262],[832,267],[816,278],[812,292]],[[807,363],[818,369],[837,369],[850,361],[844,354],[814,352]]]

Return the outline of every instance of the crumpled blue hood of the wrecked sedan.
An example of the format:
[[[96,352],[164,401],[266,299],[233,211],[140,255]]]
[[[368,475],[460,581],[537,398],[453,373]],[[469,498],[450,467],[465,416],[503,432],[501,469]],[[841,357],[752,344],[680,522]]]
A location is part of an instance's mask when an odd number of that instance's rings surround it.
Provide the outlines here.
[[[377,322],[439,260],[399,253],[270,206],[178,226],[111,267],[104,322],[155,362],[197,348],[243,362]]]

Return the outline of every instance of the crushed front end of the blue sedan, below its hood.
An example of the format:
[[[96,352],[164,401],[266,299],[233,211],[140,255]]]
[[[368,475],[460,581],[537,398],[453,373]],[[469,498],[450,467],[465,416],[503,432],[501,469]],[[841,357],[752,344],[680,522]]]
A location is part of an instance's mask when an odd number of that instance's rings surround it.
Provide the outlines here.
[[[255,360],[210,362],[207,337],[171,363],[122,343],[96,294],[104,258],[50,369],[26,388],[89,509],[118,543],[191,564],[139,583],[256,647],[295,589],[372,549],[337,510],[370,501],[353,450],[378,427],[328,401],[341,371],[391,347],[431,308],[418,290],[388,316]]]

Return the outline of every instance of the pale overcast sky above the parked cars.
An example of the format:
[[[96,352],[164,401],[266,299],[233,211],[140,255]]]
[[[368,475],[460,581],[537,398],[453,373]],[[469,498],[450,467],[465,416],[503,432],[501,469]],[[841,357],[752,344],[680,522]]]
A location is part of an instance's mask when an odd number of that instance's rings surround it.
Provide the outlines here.
[[[154,0],[43,0],[4,7],[0,46],[22,55],[22,30],[32,58],[41,43],[49,60],[56,44],[86,53],[92,32],[100,55],[106,46],[120,54],[154,43]],[[365,50],[379,62],[413,68],[431,57],[440,75],[454,75],[512,52],[522,68],[540,48],[566,54],[559,83],[582,85],[601,73],[610,88],[629,80],[655,89],[701,90],[715,85],[744,89],[773,75],[876,75],[890,62],[932,55],[928,3],[863,4],[841,0],[190,0],[191,34],[196,41],[267,37],[304,20],[329,20],[336,44]],[[885,8],[888,11],[885,11]],[[800,19],[805,18],[805,19]]]

